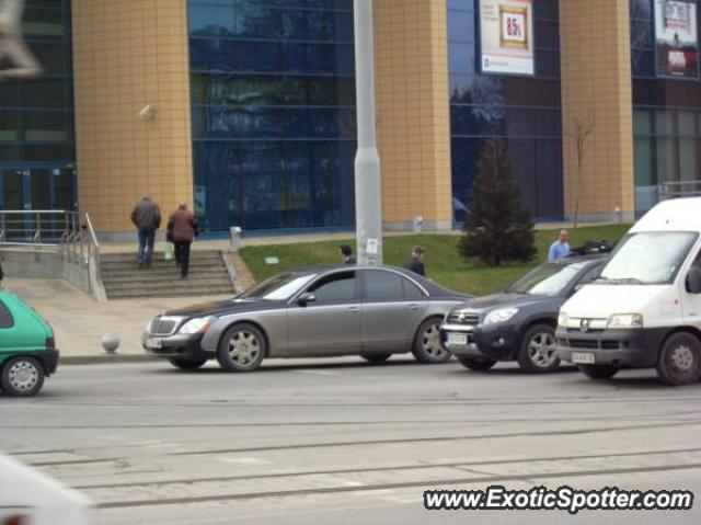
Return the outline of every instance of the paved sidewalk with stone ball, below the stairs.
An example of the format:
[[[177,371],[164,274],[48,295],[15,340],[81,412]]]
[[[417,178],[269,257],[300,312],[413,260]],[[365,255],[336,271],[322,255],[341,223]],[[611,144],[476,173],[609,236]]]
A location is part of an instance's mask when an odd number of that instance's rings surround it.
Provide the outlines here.
[[[95,303],[62,279],[8,278],[4,289],[22,297],[54,329],[60,363],[124,363],[151,358],[141,349],[141,331],[154,315],[173,308],[226,299],[229,296],[118,299]],[[102,336],[115,333],[116,354],[102,349]]]

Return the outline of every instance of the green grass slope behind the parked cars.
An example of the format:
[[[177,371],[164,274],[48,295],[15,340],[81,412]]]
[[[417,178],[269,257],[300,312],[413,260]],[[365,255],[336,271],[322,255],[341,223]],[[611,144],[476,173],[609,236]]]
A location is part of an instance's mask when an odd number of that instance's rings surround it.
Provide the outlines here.
[[[614,242],[621,238],[631,225],[606,225],[570,230],[570,246],[576,247],[590,239],[607,239]],[[466,262],[458,255],[459,236],[446,233],[423,233],[392,236],[384,238],[384,264],[403,266],[411,258],[412,247],[426,248],[426,275],[448,288],[474,295],[487,295],[504,289],[526,271],[537,266],[548,258],[550,244],[558,238],[560,230],[536,230],[538,256],[529,263],[504,264],[499,267],[484,267],[476,262]],[[337,264],[338,246],[347,243],[355,247],[355,239],[321,242],[300,242],[297,244],[269,244],[246,247],[240,251],[256,281],[263,281],[284,270],[312,266],[317,264]],[[265,264],[266,256],[276,256],[279,264]]]

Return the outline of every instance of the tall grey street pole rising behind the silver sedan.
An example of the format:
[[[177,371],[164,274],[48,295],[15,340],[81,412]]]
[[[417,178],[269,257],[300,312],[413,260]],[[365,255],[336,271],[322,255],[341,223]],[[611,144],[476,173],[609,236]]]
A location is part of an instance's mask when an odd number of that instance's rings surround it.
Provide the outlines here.
[[[355,224],[359,264],[382,264],[382,187],[375,139],[372,0],[354,0],[355,88],[358,149],[355,156]]]

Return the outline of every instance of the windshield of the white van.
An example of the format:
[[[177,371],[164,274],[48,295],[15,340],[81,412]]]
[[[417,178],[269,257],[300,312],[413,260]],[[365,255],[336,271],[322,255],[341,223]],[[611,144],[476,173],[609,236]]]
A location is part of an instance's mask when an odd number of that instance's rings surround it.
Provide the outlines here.
[[[699,235],[693,231],[629,233],[618,243],[598,282],[669,284]]]

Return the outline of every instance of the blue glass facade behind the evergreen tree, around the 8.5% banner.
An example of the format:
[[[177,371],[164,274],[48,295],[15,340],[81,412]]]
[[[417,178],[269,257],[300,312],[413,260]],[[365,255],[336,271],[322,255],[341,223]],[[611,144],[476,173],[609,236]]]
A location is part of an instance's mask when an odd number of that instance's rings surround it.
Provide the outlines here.
[[[484,139],[498,136],[507,144],[524,203],[533,216],[563,216],[558,1],[537,0],[533,8],[536,75],[482,75],[476,2],[448,0],[452,196],[460,202],[458,209],[470,199]]]

